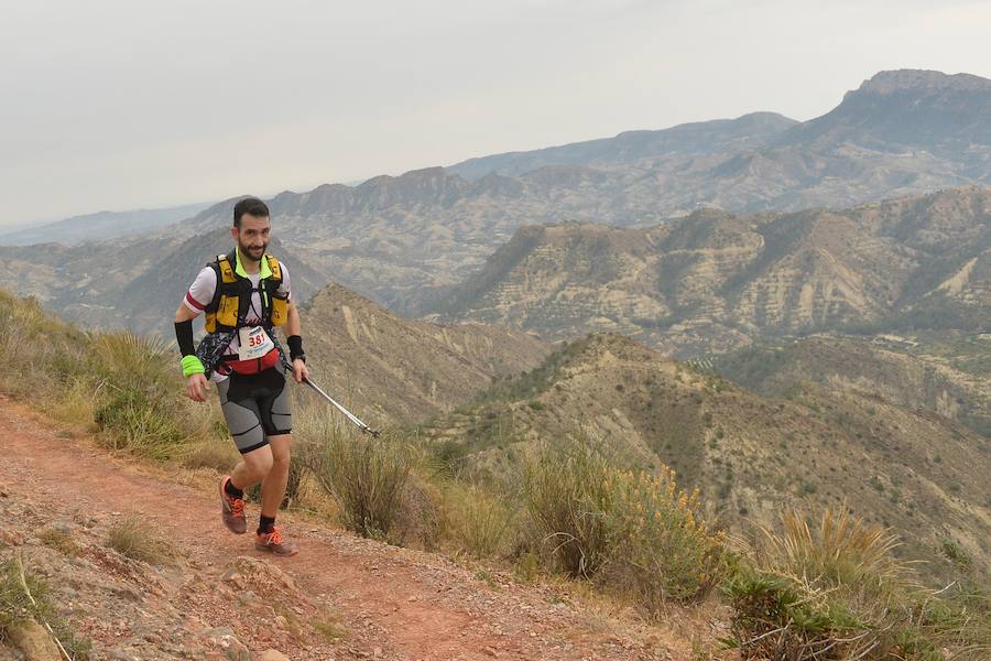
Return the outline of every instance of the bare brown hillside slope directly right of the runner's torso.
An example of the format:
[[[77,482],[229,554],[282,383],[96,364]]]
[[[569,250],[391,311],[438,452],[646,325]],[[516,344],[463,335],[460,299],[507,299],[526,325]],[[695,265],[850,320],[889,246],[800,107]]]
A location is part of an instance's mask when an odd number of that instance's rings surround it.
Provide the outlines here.
[[[549,344],[519,330],[404,319],[334,284],[302,317],[314,380],[370,424],[448,411],[493,378],[531,369],[551,353]]]

